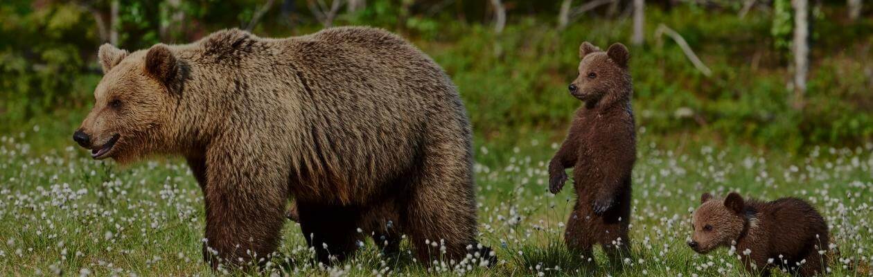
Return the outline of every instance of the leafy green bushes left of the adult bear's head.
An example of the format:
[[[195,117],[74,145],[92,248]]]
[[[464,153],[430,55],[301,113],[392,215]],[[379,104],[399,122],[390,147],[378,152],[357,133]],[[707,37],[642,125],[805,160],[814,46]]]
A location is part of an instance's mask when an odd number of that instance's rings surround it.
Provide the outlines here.
[[[85,49],[97,44],[93,22],[71,3],[33,9],[30,1],[0,5],[0,118],[23,121],[69,101],[86,100],[96,80]]]

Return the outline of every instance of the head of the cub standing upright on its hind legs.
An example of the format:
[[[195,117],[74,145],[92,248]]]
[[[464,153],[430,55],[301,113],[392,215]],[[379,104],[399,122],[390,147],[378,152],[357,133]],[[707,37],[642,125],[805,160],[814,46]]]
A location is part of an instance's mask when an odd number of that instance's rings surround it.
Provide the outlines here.
[[[622,44],[609,46],[607,52],[588,42],[579,46],[579,76],[570,84],[570,94],[588,105],[601,102],[604,98],[618,99],[628,95],[610,95],[610,93],[625,93],[626,90],[616,89],[630,86],[628,48]]]

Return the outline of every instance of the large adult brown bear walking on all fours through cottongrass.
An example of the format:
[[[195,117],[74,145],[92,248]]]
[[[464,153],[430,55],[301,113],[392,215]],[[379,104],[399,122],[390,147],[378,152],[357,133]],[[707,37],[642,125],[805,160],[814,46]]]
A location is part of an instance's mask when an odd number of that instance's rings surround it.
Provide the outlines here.
[[[464,105],[443,69],[402,38],[235,29],[136,52],[103,45],[98,57],[105,75],[74,140],[122,163],[184,156],[203,190],[213,267],[263,262],[290,198],[324,263],[354,252],[359,226],[388,220],[422,262],[490,253],[476,247]]]

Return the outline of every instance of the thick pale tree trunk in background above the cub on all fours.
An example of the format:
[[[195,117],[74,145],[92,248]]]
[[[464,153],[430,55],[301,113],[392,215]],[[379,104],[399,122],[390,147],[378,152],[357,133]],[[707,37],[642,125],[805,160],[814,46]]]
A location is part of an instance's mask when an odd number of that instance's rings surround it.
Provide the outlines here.
[[[803,107],[809,71],[809,9],[807,0],[792,0],[794,8],[794,108]]]

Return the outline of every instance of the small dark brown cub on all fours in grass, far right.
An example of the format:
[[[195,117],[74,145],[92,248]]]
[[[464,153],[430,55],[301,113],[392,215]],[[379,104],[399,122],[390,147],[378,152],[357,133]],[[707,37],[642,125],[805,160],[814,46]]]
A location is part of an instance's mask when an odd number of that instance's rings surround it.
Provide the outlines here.
[[[746,269],[762,276],[769,275],[773,266],[800,276],[825,272],[828,225],[803,200],[743,200],[732,192],[724,199],[704,193],[700,203],[688,242],[694,251],[708,253],[718,246],[735,245]]]

